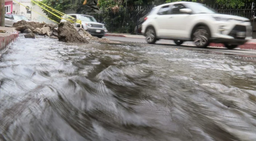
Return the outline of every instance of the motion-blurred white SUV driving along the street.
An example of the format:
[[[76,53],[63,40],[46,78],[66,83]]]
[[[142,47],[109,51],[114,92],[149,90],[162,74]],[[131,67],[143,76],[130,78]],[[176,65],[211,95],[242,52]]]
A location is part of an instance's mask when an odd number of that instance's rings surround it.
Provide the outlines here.
[[[149,44],[170,39],[177,45],[194,41],[198,47],[207,47],[215,42],[234,49],[252,39],[251,30],[245,17],[218,14],[200,3],[174,2],[153,8],[141,32]]]

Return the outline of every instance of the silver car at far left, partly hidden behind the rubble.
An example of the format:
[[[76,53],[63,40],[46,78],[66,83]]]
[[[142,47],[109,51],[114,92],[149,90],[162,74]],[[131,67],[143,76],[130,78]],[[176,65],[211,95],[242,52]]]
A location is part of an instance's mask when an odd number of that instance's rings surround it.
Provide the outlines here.
[[[27,19],[23,15],[6,14],[5,15],[5,26],[13,27],[13,24],[20,20],[26,20],[27,22],[29,22],[29,19]]]

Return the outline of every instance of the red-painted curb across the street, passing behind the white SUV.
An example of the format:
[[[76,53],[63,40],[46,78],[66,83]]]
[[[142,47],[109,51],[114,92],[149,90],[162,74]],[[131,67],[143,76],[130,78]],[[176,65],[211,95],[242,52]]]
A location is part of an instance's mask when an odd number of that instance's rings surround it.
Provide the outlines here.
[[[125,36],[123,34],[105,34],[104,36],[127,37],[127,36]],[[129,38],[136,38],[136,37],[129,37]],[[218,43],[211,43],[209,46],[210,47],[225,47],[224,44],[218,44]],[[247,42],[247,43],[245,43],[243,45],[239,45],[237,48],[256,50],[256,43],[254,43],[254,42]]]

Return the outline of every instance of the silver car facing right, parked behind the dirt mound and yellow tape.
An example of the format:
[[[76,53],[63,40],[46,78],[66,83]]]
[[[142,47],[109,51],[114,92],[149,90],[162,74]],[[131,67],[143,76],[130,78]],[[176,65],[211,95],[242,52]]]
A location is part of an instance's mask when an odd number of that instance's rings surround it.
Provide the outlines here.
[[[71,17],[74,17],[75,19],[82,21],[82,28],[86,31],[88,31],[92,36],[97,36],[98,38],[102,38],[104,34],[107,32],[107,29],[104,24],[98,23],[96,19],[94,19],[93,16],[88,15],[81,15],[81,14],[67,14]],[[69,18],[72,19],[69,16],[62,16],[62,18]],[[66,20],[62,19],[61,22],[64,22]],[[80,27],[79,23],[74,23],[74,27]]]

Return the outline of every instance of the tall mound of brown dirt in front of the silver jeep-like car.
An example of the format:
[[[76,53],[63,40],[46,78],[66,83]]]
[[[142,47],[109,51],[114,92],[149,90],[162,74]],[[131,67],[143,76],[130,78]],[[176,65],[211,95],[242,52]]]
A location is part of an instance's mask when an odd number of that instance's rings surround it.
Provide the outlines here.
[[[61,22],[59,24],[58,38],[62,42],[88,43],[69,22]]]

